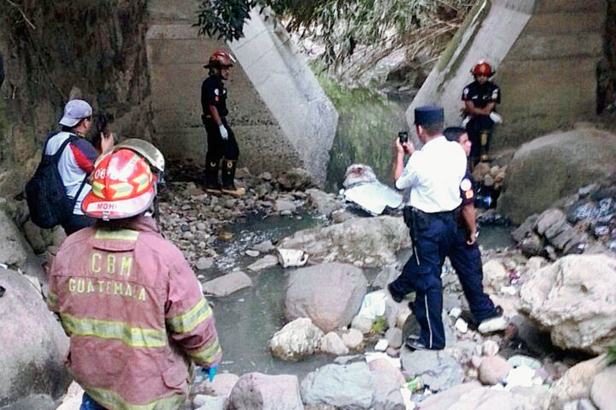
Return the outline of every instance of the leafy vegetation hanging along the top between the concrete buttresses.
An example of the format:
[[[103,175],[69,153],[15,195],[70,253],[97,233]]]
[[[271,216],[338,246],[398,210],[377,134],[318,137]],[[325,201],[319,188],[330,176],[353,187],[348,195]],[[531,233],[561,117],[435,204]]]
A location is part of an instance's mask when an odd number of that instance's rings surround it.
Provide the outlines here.
[[[269,8],[288,31],[322,45],[327,67],[361,56],[362,65],[397,49],[436,56],[477,0],[201,0],[199,33],[232,41],[244,36],[249,12]]]

